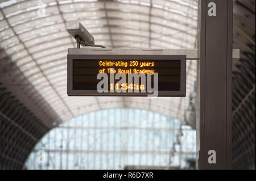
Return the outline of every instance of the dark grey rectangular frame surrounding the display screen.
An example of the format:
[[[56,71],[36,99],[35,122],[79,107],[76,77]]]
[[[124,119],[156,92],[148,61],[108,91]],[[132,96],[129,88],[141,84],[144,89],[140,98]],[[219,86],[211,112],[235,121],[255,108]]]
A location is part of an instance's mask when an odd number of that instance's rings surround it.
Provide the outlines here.
[[[97,90],[73,90],[73,60],[180,60],[180,91],[158,91],[159,97],[186,96],[186,61],[185,55],[135,55],[135,54],[68,54],[67,94],[69,96],[148,96],[143,92],[98,92]]]

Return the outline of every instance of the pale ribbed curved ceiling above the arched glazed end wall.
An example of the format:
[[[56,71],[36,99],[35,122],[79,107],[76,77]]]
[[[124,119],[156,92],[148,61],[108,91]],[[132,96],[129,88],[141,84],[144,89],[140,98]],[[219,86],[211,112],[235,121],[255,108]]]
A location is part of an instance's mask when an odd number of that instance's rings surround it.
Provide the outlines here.
[[[68,97],[67,53],[68,48],[76,48],[76,41],[65,26],[75,20],[92,33],[96,44],[106,47],[196,48],[196,0],[1,2],[0,46],[2,57],[10,61],[5,65],[9,74],[1,73],[2,82],[20,99],[32,99],[27,106],[41,111],[39,118],[47,110],[43,121],[48,127],[82,113],[120,107],[184,120],[189,94],[194,91],[196,61],[187,63],[186,98]],[[18,70],[13,71],[10,64]]]

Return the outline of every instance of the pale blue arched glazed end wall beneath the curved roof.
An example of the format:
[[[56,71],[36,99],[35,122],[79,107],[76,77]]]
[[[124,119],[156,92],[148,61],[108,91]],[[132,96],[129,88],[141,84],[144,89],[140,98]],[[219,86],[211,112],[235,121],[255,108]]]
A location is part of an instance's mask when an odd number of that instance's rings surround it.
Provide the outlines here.
[[[90,112],[49,132],[27,169],[189,169],[196,131],[179,120],[135,109]]]

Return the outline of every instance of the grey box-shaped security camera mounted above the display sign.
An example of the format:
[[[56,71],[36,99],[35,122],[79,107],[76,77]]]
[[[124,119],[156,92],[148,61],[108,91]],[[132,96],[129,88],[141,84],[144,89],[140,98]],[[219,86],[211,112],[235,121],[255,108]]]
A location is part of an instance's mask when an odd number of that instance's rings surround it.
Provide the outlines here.
[[[94,45],[94,37],[90,35],[80,22],[68,23],[66,30],[77,41],[85,42],[85,44],[81,44],[82,46],[85,46],[86,44]]]

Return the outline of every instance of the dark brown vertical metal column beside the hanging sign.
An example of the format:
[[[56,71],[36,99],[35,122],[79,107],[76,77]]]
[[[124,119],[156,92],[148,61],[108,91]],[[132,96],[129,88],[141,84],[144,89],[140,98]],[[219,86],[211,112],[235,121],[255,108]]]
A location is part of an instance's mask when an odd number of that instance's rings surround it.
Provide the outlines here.
[[[199,0],[198,18],[196,165],[232,169],[233,0]],[[209,150],[216,163],[208,162]]]

